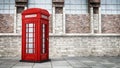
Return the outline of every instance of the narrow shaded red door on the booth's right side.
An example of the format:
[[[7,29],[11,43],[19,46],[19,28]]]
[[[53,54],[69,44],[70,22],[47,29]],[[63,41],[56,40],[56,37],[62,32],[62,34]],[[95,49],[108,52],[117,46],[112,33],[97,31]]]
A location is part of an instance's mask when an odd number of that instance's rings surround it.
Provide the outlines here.
[[[41,60],[48,60],[49,47],[48,47],[48,30],[49,30],[48,21],[41,20],[41,34],[42,34],[42,44],[41,44]]]

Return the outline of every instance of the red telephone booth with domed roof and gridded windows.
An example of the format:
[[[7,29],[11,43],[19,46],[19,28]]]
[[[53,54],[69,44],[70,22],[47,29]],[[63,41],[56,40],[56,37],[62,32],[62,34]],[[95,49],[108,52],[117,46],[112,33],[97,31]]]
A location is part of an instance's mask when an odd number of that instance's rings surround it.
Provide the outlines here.
[[[22,12],[21,61],[41,62],[49,59],[49,13],[30,8]]]

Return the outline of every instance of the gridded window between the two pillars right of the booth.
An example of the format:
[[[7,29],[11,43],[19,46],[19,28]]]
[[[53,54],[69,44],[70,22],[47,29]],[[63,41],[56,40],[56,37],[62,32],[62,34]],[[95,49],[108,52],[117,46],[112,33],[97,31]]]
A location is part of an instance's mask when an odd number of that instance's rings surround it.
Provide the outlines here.
[[[66,14],[88,13],[88,0],[65,0]]]

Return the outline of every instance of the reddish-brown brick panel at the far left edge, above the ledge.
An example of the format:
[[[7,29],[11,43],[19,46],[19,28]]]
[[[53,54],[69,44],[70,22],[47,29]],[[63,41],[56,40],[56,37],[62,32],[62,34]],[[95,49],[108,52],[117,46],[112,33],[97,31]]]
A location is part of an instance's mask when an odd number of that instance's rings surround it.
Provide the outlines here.
[[[0,33],[13,33],[14,15],[0,14]]]

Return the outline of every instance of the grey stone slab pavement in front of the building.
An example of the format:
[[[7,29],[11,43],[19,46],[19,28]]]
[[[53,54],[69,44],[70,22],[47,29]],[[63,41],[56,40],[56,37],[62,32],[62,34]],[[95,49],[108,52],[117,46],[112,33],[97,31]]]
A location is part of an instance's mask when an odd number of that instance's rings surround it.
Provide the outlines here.
[[[63,57],[49,62],[19,62],[19,58],[0,58],[0,68],[120,68],[120,57]]]

